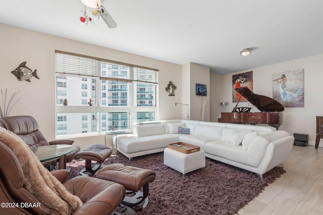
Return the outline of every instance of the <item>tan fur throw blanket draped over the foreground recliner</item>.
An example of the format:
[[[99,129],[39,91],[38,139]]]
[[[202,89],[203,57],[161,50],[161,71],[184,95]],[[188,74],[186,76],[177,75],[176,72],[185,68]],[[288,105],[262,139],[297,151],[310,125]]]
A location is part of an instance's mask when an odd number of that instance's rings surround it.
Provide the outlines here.
[[[24,187],[35,195],[41,204],[61,214],[71,214],[82,206],[81,199],[67,191],[64,185],[43,167],[20,137],[0,127],[0,140],[16,154],[24,173]]]

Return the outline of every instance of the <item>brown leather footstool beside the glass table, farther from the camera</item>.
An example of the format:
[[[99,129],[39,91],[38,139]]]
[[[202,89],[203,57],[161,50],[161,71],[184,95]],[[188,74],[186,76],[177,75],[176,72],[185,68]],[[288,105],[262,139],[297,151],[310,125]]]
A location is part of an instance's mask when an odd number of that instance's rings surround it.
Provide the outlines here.
[[[75,154],[75,159],[85,159],[85,168],[81,170],[80,174],[88,176],[84,172],[95,173],[99,168],[105,165],[101,165],[107,157],[112,154],[110,147],[101,144],[92,144],[89,147],[81,150]],[[96,161],[96,164],[92,167],[92,161]]]

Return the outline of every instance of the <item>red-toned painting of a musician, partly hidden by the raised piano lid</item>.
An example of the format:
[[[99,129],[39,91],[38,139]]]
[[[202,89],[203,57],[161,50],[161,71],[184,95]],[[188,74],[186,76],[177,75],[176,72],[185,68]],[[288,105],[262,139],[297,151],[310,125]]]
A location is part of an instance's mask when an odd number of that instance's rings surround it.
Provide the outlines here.
[[[248,73],[240,73],[232,76],[232,102],[246,102],[247,100],[240,95],[235,89],[247,87],[249,90],[253,91],[252,86],[252,71],[248,71]],[[241,97],[241,98],[240,98]]]

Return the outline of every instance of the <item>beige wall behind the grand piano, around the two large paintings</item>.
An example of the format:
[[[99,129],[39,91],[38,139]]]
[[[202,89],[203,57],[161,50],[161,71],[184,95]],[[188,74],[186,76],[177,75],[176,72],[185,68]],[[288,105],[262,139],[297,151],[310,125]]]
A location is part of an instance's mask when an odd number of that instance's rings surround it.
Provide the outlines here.
[[[291,135],[293,133],[307,133],[309,134],[309,144],[314,145],[316,116],[323,116],[323,96],[321,95],[323,90],[323,55],[248,69],[234,74],[253,71],[253,92],[272,98],[272,74],[302,68],[304,69],[304,107],[285,108],[284,123],[279,129],[286,130]],[[232,103],[232,75],[234,74],[228,74],[223,77],[223,98],[229,102],[227,112],[231,112],[236,105],[236,103]],[[247,104],[243,102],[239,103],[238,106],[243,107]],[[211,105],[216,106],[217,104]],[[255,108],[253,110],[257,111]],[[212,116],[220,117],[221,112],[212,113]],[[320,141],[320,146],[323,146],[323,140]]]

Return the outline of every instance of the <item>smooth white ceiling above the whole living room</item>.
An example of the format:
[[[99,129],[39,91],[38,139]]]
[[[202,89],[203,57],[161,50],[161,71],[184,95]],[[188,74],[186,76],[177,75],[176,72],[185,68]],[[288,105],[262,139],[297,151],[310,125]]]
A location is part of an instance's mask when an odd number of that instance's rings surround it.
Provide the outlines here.
[[[227,74],[323,54],[322,0],[105,0],[118,27],[79,21],[81,0],[1,1],[0,23]],[[250,48],[246,57],[239,53]],[[3,51],[3,50],[2,50]]]

